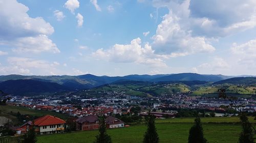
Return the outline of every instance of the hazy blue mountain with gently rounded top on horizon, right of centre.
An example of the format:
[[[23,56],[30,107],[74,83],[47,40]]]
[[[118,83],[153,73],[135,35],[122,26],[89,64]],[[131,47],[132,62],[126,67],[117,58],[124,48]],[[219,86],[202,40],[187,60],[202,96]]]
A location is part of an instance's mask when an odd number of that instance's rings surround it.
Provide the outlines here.
[[[227,79],[228,76],[223,75],[202,75],[197,73],[179,73],[172,74],[168,76],[163,76],[159,78],[152,79],[151,81],[192,81],[192,80],[200,80],[200,81],[219,81],[223,79]]]

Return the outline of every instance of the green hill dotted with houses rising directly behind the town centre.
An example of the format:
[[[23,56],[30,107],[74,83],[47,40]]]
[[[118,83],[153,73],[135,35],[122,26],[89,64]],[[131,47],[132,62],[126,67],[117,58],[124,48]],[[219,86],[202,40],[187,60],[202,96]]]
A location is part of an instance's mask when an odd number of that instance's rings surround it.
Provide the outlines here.
[[[122,83],[105,84],[90,90],[82,90],[72,93],[79,96],[99,97],[109,93],[123,94],[130,96],[158,96],[176,93],[188,93],[190,87],[183,83],[153,83],[142,81],[123,81]]]

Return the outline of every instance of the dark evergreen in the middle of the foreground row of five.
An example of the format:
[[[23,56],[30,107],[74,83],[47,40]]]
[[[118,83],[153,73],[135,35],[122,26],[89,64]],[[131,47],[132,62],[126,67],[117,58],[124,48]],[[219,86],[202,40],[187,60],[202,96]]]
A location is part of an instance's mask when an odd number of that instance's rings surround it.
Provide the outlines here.
[[[155,127],[155,117],[149,113],[146,120],[147,130],[144,134],[143,143],[158,143],[159,137]]]

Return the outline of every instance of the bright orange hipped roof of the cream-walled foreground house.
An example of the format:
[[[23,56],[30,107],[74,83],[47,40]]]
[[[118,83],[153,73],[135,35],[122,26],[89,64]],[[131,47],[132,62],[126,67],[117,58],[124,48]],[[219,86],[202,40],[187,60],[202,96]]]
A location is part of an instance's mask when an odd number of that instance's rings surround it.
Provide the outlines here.
[[[57,124],[65,124],[66,122],[57,117],[53,117],[50,115],[46,115],[34,120],[35,126],[47,126],[47,125],[57,125]]]

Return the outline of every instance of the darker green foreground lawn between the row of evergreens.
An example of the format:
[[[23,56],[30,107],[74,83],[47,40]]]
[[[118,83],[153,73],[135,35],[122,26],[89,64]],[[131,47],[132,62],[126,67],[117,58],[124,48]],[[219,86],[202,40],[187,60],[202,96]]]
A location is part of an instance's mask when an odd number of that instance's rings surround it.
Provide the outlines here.
[[[193,123],[157,123],[160,143],[187,142],[188,132]],[[240,125],[231,124],[203,124],[204,134],[209,143],[233,143],[238,141],[241,131]],[[112,142],[136,143],[142,142],[146,125],[137,125],[127,128],[109,129]],[[38,143],[84,143],[93,142],[98,131],[79,131],[64,134],[39,135]]]

